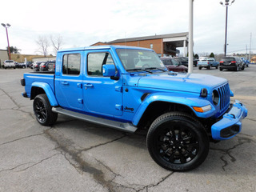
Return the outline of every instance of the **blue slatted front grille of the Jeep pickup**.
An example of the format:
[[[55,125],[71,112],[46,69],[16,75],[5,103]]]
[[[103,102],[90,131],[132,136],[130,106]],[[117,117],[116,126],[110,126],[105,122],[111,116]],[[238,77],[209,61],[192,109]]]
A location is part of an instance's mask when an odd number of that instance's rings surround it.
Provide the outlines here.
[[[220,111],[219,114],[226,111],[230,106],[230,86],[226,83],[224,86],[218,87],[218,95],[220,99]]]

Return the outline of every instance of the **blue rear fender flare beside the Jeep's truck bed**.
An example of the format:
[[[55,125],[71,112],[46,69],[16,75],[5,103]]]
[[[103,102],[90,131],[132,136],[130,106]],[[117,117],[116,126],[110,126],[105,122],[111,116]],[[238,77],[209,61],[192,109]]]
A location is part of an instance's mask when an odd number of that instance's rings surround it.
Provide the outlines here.
[[[51,89],[50,85],[46,82],[33,82],[31,85],[31,94],[32,94],[32,89],[33,87],[38,87],[42,88],[46,92],[47,98],[49,99],[50,105],[51,106],[58,106],[58,102],[55,98],[54,92]]]

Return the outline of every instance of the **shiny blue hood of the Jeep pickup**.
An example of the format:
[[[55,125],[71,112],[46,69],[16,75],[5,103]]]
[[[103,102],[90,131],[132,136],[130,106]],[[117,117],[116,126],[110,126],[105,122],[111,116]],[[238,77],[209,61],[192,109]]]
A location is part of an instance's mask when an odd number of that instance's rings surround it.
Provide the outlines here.
[[[177,90],[201,93],[202,88],[212,90],[227,82],[225,78],[218,78],[207,74],[151,74],[138,80],[139,87],[162,90]]]

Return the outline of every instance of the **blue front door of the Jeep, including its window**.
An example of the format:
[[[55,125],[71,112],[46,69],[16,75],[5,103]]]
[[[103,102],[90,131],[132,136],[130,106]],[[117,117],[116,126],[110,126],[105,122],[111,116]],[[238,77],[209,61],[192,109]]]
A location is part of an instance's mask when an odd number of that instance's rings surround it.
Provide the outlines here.
[[[114,65],[108,50],[87,52],[83,95],[86,110],[104,116],[122,115],[122,80],[103,77],[102,66]],[[118,72],[117,72],[118,73]]]

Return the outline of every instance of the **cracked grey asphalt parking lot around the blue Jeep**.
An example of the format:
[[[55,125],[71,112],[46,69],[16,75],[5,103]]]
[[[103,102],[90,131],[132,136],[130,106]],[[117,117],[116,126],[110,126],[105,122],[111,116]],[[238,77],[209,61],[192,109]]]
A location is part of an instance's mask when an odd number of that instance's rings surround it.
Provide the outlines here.
[[[198,70],[227,78],[248,117],[242,132],[210,144],[206,161],[186,173],[162,169],[146,134],[127,134],[59,115],[40,126],[20,78],[30,69],[0,70],[0,191],[256,191],[256,65]]]

